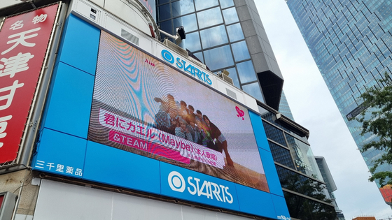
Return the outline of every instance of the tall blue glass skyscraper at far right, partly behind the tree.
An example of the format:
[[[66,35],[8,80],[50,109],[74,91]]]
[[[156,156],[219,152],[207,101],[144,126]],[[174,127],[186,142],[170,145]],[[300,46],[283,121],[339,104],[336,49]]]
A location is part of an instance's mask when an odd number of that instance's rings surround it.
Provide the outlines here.
[[[360,135],[361,124],[349,119],[363,110],[359,96],[365,88],[378,85],[377,79],[385,72],[391,73],[392,2],[286,2],[356,145],[361,149],[366,142],[377,140],[369,133]],[[370,168],[383,153],[370,149],[362,156]],[[382,170],[392,170],[392,166],[383,164],[376,171]],[[391,205],[391,187],[380,191]]]

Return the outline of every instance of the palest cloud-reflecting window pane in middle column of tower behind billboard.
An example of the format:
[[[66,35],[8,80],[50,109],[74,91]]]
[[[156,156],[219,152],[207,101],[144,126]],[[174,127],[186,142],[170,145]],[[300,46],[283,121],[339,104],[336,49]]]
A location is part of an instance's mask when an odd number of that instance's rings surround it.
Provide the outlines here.
[[[225,25],[202,30],[200,31],[200,37],[202,38],[203,48],[214,47],[229,42]]]

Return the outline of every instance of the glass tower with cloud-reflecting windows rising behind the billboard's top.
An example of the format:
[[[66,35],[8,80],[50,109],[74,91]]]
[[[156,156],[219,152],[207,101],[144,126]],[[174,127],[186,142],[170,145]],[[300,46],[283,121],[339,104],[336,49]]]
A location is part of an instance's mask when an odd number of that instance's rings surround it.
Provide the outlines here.
[[[183,26],[181,47],[214,73],[229,71],[234,85],[278,110],[283,77],[254,1],[158,1],[158,25],[169,34]]]

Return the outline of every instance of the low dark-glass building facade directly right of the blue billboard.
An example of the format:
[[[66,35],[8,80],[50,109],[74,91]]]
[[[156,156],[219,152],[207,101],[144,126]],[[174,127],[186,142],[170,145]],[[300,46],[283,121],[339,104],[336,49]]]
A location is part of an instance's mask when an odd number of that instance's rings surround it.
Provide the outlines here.
[[[293,219],[336,219],[332,199],[307,138],[309,131],[280,112],[259,105],[283,194]]]

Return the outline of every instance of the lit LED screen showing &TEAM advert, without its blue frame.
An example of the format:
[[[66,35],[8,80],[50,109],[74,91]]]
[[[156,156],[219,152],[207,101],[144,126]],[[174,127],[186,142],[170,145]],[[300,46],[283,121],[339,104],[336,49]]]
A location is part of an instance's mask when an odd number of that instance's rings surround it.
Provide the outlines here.
[[[101,33],[87,140],[269,192],[246,108]]]

